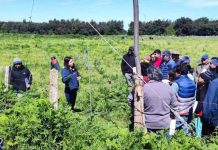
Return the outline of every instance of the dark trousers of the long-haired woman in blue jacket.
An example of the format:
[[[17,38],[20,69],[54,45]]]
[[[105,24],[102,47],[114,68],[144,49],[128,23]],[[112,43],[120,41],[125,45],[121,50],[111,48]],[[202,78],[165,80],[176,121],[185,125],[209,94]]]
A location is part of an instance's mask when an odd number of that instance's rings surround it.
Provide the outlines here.
[[[70,90],[69,88],[65,88],[65,96],[68,103],[70,103],[72,110],[74,109],[76,103],[77,91],[78,89]]]

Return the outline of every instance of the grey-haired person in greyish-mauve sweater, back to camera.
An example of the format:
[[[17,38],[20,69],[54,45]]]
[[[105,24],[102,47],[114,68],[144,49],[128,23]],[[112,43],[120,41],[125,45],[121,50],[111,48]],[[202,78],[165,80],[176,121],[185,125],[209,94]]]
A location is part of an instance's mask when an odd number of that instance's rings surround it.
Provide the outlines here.
[[[178,103],[172,88],[162,83],[158,68],[147,69],[149,82],[144,85],[144,113],[148,132],[157,132],[170,127],[170,108],[176,110]],[[169,108],[170,107],[170,108]]]

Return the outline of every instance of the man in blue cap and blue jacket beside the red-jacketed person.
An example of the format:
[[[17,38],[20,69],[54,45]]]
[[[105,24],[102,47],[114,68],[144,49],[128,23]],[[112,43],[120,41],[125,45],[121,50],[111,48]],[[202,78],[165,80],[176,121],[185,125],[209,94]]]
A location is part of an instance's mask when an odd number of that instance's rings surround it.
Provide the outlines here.
[[[173,61],[173,59],[171,58],[171,53],[169,50],[165,50],[163,53],[162,53],[162,63],[160,65],[160,69],[161,69],[161,72],[163,74],[163,80],[166,80],[168,79],[168,73],[171,72],[175,66],[176,66],[176,63]]]

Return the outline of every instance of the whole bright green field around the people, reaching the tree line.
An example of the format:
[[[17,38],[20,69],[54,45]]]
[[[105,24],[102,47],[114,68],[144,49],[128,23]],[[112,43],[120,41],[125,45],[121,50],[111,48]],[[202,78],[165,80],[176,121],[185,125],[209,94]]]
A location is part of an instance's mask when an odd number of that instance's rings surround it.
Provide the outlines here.
[[[131,36],[106,36],[122,56],[133,45]],[[154,49],[178,50],[193,67],[202,54],[217,56],[218,37],[140,37],[140,57]],[[99,36],[0,34],[0,139],[5,149],[218,149],[216,135],[202,139],[177,132],[129,132],[128,88],[120,57]],[[89,55],[88,55],[89,54]],[[64,97],[59,73],[59,109],[49,103],[50,57],[72,56],[82,76],[73,113]],[[33,74],[31,90],[22,98],[3,92],[3,68],[19,57]],[[90,79],[90,82],[89,82]],[[109,82],[111,81],[111,82]],[[110,84],[111,83],[111,84]]]

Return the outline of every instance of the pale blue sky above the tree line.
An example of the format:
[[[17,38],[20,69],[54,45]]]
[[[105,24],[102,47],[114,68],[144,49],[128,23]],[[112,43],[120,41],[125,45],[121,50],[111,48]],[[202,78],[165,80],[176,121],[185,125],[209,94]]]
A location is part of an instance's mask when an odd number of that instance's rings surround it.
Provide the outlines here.
[[[180,17],[218,19],[218,0],[138,0],[141,21],[176,20]],[[0,0],[0,21],[79,19],[122,20],[127,29],[133,20],[133,0]]]

